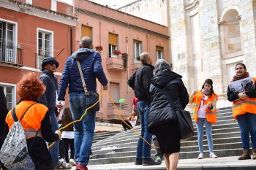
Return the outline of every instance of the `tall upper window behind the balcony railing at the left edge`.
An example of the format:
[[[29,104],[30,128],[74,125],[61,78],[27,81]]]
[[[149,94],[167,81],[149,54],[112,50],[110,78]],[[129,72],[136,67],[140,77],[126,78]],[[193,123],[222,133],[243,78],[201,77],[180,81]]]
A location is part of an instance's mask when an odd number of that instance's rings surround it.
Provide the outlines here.
[[[15,24],[0,20],[0,60],[15,63]]]

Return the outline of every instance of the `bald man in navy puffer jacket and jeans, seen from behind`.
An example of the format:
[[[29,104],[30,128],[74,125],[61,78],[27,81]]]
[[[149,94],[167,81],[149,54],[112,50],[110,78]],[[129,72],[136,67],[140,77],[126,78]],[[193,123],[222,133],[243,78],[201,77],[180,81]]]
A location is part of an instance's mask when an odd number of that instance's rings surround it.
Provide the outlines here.
[[[59,108],[61,101],[65,100],[67,86],[69,86],[69,107],[72,112],[74,120],[79,120],[86,111],[86,99],[83,83],[78,71],[78,64],[80,62],[83,77],[86,82],[88,91],[97,92],[96,78],[103,85],[103,90],[108,90],[108,80],[102,68],[102,59],[99,53],[92,50],[92,41],[88,36],[81,40],[81,48],[73,53],[64,66],[64,71],[61,75],[59,83]],[[92,139],[95,128],[95,114],[96,112],[89,109],[86,115],[78,123],[75,123],[75,157],[78,170],[87,170],[89,162],[89,154],[91,150]]]

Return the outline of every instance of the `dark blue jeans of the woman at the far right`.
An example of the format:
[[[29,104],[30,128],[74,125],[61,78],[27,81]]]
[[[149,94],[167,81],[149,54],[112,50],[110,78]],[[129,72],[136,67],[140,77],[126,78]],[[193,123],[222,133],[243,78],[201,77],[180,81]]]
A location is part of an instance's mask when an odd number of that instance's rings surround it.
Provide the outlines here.
[[[249,150],[249,134],[251,134],[252,149],[256,149],[256,115],[247,112],[244,115],[238,115],[237,121],[241,131],[243,149]]]

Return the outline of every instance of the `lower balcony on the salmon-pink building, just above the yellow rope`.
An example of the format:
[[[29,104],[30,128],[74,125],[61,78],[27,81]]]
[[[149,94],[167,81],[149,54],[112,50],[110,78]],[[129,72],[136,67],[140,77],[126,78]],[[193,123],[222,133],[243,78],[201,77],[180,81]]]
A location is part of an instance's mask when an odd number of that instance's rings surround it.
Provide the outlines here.
[[[120,104],[120,103],[108,103],[108,118],[110,120],[120,120],[119,115],[122,119],[125,119],[129,116],[128,104]]]

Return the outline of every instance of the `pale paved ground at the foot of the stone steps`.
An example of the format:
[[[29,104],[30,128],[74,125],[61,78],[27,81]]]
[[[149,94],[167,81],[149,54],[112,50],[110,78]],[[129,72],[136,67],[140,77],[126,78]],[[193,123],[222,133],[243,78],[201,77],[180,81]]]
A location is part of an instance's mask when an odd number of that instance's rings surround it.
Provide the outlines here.
[[[240,168],[239,168],[240,167]],[[131,169],[165,169],[165,163],[159,166],[135,166],[134,163],[114,163],[104,165],[88,166],[89,170],[131,170]],[[72,169],[75,169],[73,167]],[[183,159],[178,161],[178,169],[241,169],[241,170],[256,170],[256,160],[238,161],[238,157],[223,157],[223,158],[204,158],[198,159]]]

